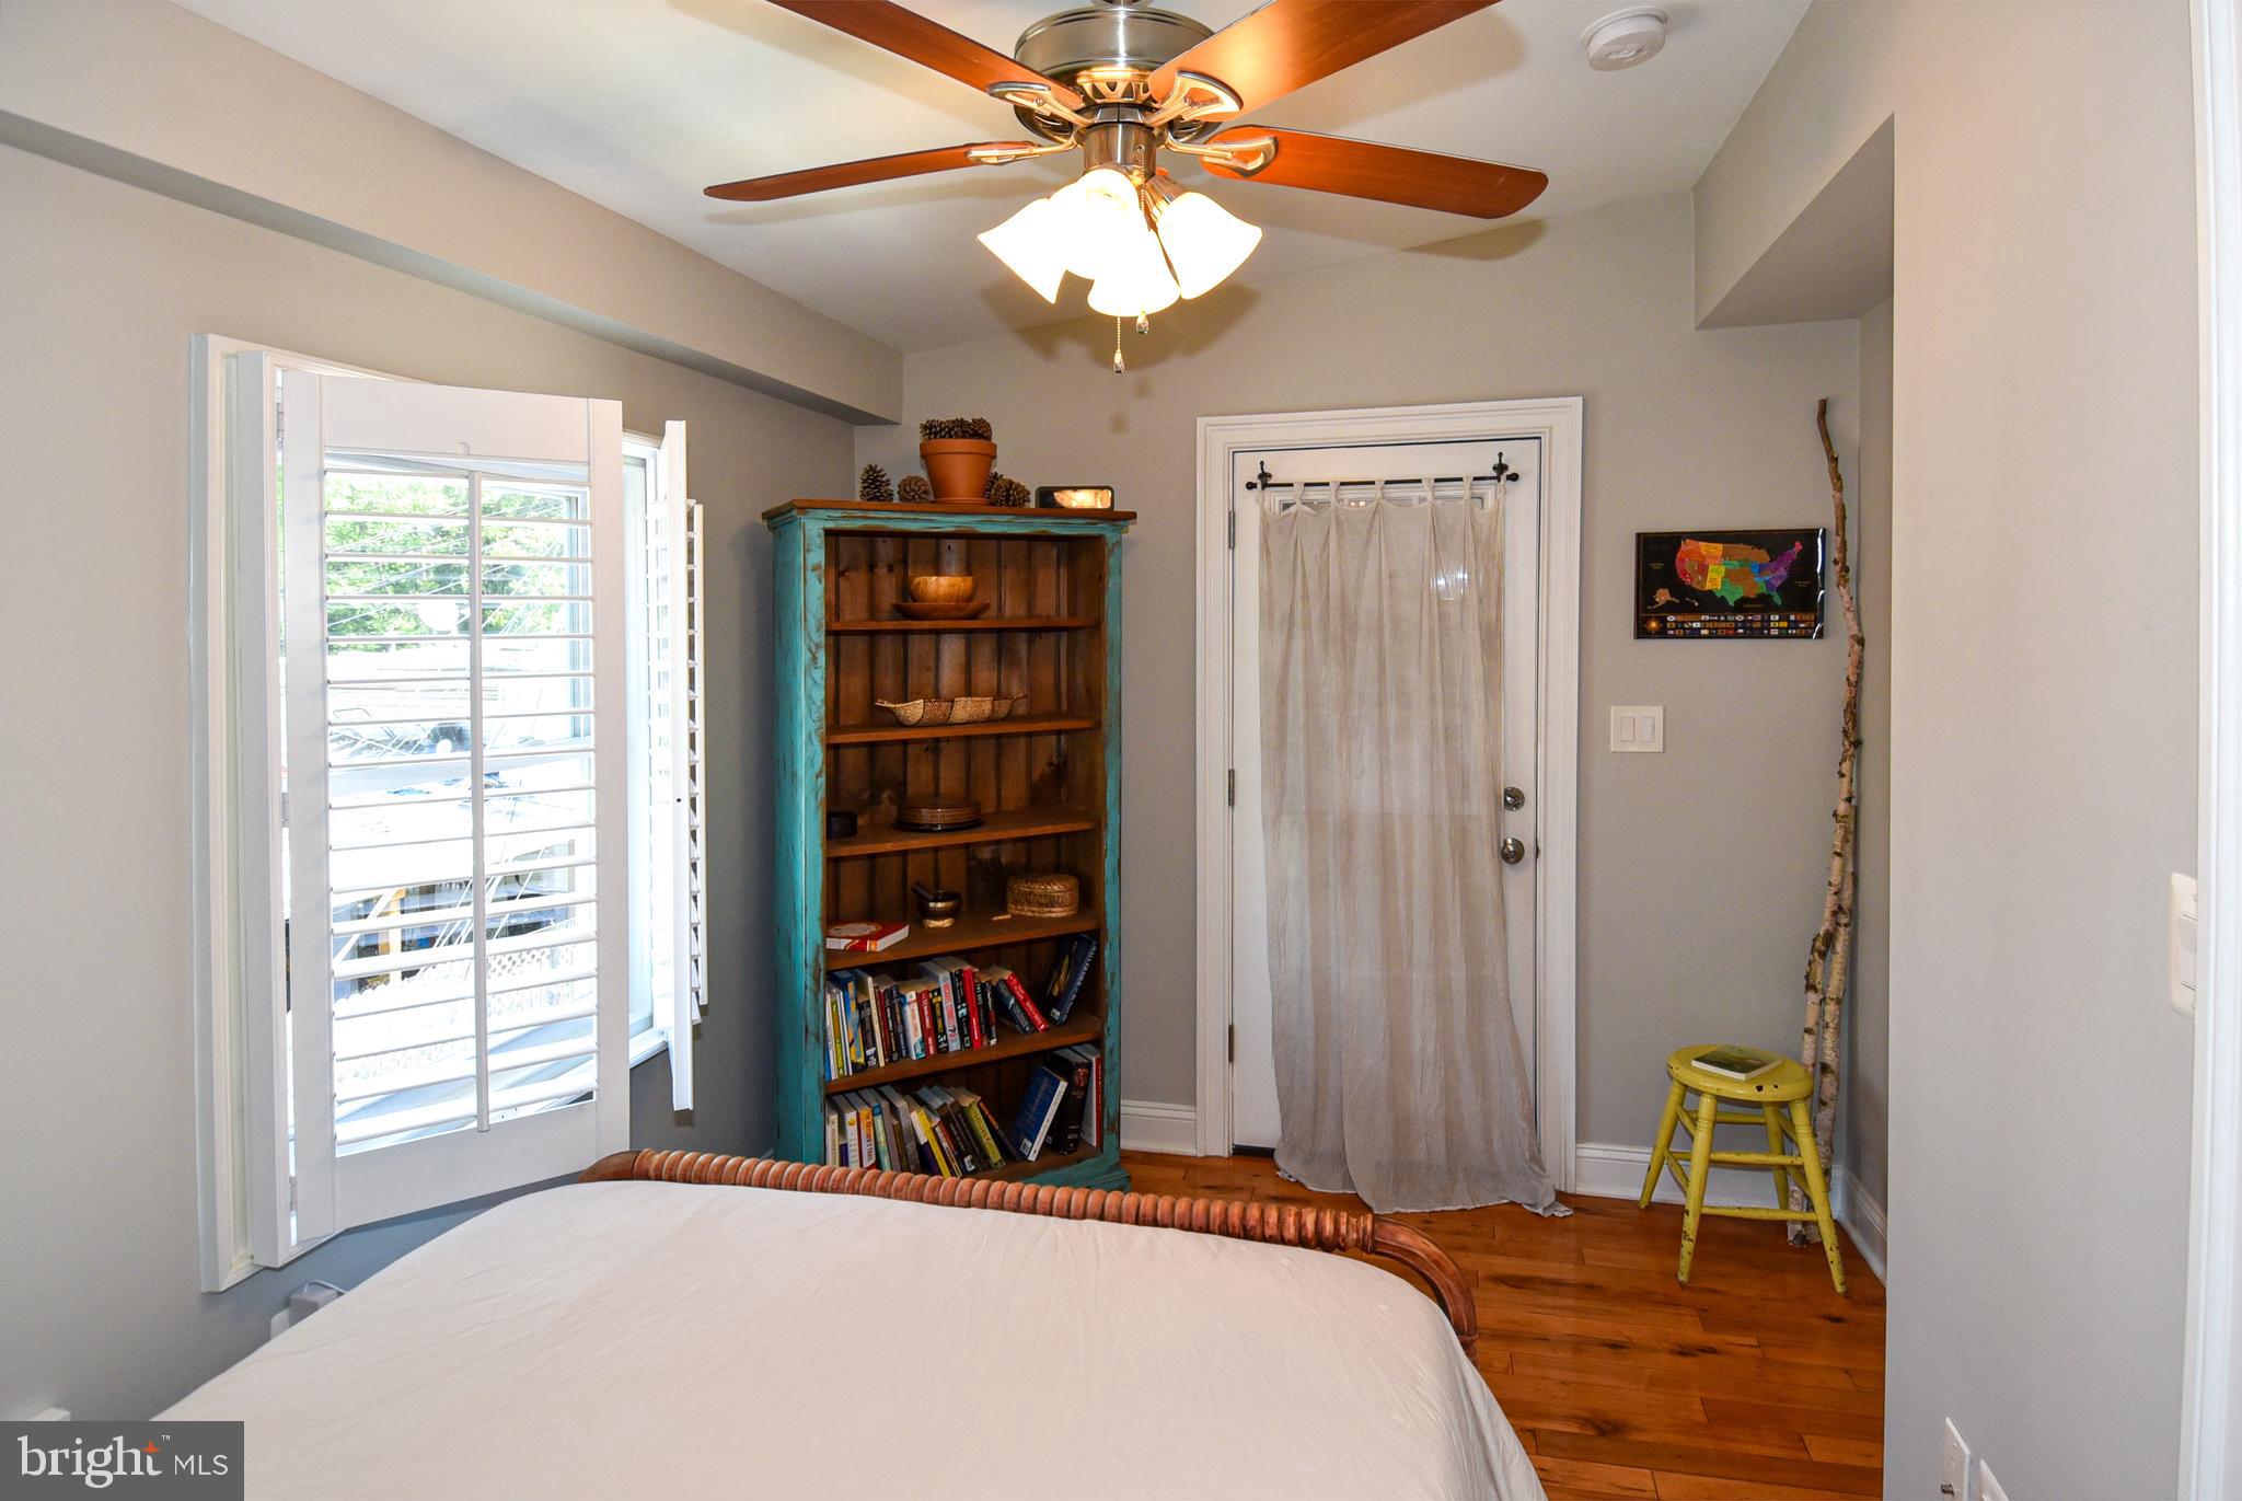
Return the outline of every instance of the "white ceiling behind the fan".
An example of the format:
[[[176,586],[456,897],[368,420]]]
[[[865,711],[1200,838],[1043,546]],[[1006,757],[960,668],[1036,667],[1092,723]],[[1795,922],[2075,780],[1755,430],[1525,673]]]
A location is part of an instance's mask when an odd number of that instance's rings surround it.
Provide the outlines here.
[[[1081,314],[1045,305],[973,236],[1065,179],[1058,157],[776,204],[702,186],[962,141],[1018,139],[1011,110],[762,0],[182,0],[186,9],[549,177],[901,350]],[[1000,52],[1065,0],[917,0]],[[1258,110],[1271,126],[1493,157],[1549,173],[1520,218],[1690,186],[1807,0],[1668,0],[1650,63],[1599,74],[1587,22],[1630,0],[1509,0]],[[1170,0],[1222,27],[1253,0]],[[1238,274],[1453,240],[1480,220],[1206,179],[1267,229]]]

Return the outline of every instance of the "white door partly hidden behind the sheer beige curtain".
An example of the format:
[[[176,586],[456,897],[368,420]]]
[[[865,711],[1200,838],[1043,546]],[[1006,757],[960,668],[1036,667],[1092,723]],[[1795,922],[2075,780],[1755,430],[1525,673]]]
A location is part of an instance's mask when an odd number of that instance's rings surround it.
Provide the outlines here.
[[[1421,480],[1484,480],[1495,467],[1511,471],[1502,525],[1502,783],[1520,805],[1502,819],[1504,839],[1520,859],[1504,866],[1502,902],[1511,958],[1511,1014],[1525,1048],[1527,1079],[1536,1066],[1536,702],[1540,669],[1540,512],[1542,455],[1538,438],[1444,440],[1341,449],[1264,449],[1233,458],[1231,507],[1238,516],[1231,550],[1231,1142],[1267,1149],[1278,1140],[1276,1037],[1269,996],[1269,913],[1262,868],[1260,812],[1260,507],[1273,487],[1289,496],[1296,482],[1309,496],[1325,482],[1390,480],[1397,496]],[[1462,491],[1444,485],[1442,494]],[[1480,494],[1491,482],[1475,485]],[[1347,489],[1370,494],[1363,489]],[[1421,494],[1417,489],[1415,494]],[[1439,500],[1453,505],[1455,500]],[[1536,1102],[1538,1108],[1538,1102]]]

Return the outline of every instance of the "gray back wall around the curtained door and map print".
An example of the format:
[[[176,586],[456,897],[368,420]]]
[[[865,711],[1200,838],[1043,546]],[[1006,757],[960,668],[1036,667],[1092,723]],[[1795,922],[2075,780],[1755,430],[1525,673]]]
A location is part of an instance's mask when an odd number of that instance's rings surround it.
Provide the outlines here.
[[[1233,206],[1251,218],[1260,191],[1278,188],[1238,184]],[[1836,397],[1850,462],[1856,330],[1697,332],[1690,307],[1690,204],[1673,195],[1215,292],[1130,334],[1123,377],[1108,319],[906,357],[908,417],[989,415],[1007,473],[1112,482],[1141,512],[1123,1097],[1195,1093],[1195,422],[1220,413],[1585,397],[1581,1140],[1646,1147],[1673,1048],[1796,1048],[1843,651],[1634,642],[1632,550],[1637,530],[1827,523],[1814,399]],[[915,433],[861,429],[856,458],[912,469]],[[1605,749],[1610,705],[1637,702],[1666,705],[1664,756]]]

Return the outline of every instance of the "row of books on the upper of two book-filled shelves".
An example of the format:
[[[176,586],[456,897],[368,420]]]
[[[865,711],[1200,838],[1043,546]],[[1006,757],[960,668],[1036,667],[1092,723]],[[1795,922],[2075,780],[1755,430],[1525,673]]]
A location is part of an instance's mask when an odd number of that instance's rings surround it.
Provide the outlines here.
[[[1013,1032],[1045,1032],[1074,1014],[1096,958],[1096,933],[1060,951],[1045,1001],[1011,969],[975,969],[962,958],[928,958],[906,969],[834,969],[825,976],[825,1077],[845,1079],[944,1052],[971,1052]]]

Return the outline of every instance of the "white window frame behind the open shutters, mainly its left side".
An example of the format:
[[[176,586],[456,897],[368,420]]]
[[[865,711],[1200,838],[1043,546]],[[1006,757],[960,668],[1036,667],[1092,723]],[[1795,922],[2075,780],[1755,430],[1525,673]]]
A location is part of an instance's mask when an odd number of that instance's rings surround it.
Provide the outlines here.
[[[269,734],[265,716],[267,705],[276,702],[278,666],[276,660],[267,662],[265,682],[253,682],[256,664],[240,651],[238,642],[247,588],[253,583],[258,590],[253,599],[265,597],[262,570],[269,568],[269,561],[249,556],[251,550],[267,543],[253,534],[256,527],[238,525],[235,478],[247,480],[247,476],[229,473],[229,462],[233,453],[271,455],[276,451],[271,404],[229,399],[233,372],[249,359],[262,361],[274,381],[287,370],[401,379],[381,370],[217,334],[197,334],[191,341],[188,687],[193,731],[188,774],[195,862],[191,980],[195,994],[200,1283],[206,1290],[229,1288],[262,1265],[287,1261],[314,1243],[305,1236],[296,1245],[274,1245],[271,1230],[256,1223],[269,1216],[253,1209],[253,1205],[265,1203],[260,1196],[269,1196],[276,1171],[278,1182],[287,1182],[285,1106],[280,1106],[278,1122],[251,1120],[251,1102],[260,1095],[271,1099],[274,1093],[251,1088],[258,1077],[253,1070],[267,1070],[262,1077],[274,1077],[271,1070],[287,1068],[287,1061],[274,1057],[269,1030],[253,1025],[260,1010],[251,1001],[271,994],[274,974],[271,960],[265,958],[269,947],[260,951],[258,942],[251,940],[253,924],[244,922],[249,915],[244,893],[276,891],[271,868],[271,850],[276,848],[271,835],[276,830],[269,828],[269,812],[253,808],[253,799],[244,796],[244,758],[262,756],[260,736]],[[682,433],[677,458],[682,476]],[[278,543],[278,538],[271,541]],[[634,731],[637,725],[639,713],[632,709],[628,727]],[[632,738],[637,736],[632,734]],[[265,902],[269,895],[258,900]],[[639,927],[637,920],[632,927]],[[269,936],[267,927],[265,938],[269,940]],[[258,992],[260,985],[267,989]],[[260,1005],[267,1003],[260,1001]],[[670,1037],[659,1025],[664,1019],[655,1021],[657,1025],[630,1037],[628,1063],[643,1061],[668,1046]],[[673,1063],[688,1084],[691,1066],[684,1059]],[[608,1088],[608,1079],[601,1086]],[[621,1120],[628,1122],[628,1081],[608,1095],[623,1111]],[[260,1178],[260,1173],[265,1176]]]

